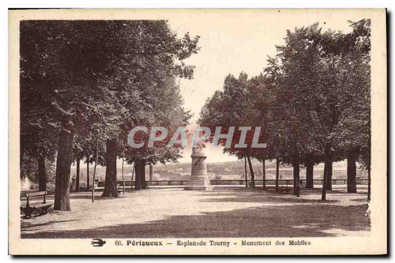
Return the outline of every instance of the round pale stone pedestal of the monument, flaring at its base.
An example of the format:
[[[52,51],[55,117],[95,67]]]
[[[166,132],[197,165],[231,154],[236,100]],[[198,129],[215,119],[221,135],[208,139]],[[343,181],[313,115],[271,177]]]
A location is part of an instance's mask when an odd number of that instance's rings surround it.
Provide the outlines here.
[[[191,178],[184,190],[210,190],[210,179],[207,176],[206,154],[203,148],[192,148]]]

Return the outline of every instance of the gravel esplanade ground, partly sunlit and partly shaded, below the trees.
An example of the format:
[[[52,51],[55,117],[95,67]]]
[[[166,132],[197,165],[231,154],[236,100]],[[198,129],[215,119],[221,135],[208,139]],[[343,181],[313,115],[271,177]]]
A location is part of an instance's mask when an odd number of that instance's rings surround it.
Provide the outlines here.
[[[163,187],[102,198],[71,194],[72,212],[50,211],[21,219],[22,238],[313,237],[367,235],[365,189],[336,186],[320,201],[320,190],[301,197],[261,189],[215,187],[185,191]],[[53,196],[48,201],[53,202]]]

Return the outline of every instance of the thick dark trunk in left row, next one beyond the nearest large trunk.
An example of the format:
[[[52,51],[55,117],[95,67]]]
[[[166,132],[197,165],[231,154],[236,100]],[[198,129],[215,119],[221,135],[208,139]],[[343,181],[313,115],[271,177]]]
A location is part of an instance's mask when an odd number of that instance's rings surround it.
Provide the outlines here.
[[[117,192],[117,139],[106,142],[106,182],[102,197],[118,197]]]

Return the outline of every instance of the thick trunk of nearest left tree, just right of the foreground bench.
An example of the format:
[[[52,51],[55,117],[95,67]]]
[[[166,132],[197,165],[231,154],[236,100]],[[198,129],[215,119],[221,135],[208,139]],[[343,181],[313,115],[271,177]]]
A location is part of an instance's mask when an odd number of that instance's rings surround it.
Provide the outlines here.
[[[55,202],[53,210],[71,211],[70,206],[70,170],[74,127],[67,124],[68,130],[62,130],[59,134],[58,155],[56,157],[56,177],[55,177]]]

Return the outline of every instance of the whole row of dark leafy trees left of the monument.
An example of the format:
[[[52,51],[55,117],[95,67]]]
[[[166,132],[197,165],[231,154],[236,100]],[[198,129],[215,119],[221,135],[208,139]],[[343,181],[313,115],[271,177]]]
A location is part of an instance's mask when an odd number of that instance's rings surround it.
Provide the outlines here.
[[[56,159],[54,210],[71,210],[73,162],[78,186],[80,161],[106,166],[103,196],[117,196],[117,158],[134,163],[139,189],[146,165],[181,156],[180,148],[128,148],[127,135],[188,123],[177,78],[192,78],[183,61],[198,37],[178,38],[166,21],[77,20],[21,21],[20,39],[21,176],[37,162],[45,190],[46,163]]]

